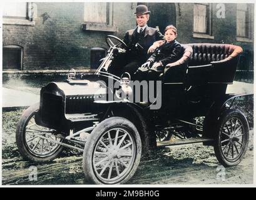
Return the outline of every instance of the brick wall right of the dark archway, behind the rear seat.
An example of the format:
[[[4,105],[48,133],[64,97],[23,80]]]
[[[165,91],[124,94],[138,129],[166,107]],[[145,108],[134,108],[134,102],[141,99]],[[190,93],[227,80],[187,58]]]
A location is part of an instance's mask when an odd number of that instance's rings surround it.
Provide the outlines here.
[[[238,69],[248,72],[237,72],[237,80],[253,79],[253,39],[252,42],[237,41],[237,4],[225,4],[225,18],[217,17],[217,4],[212,4],[212,36],[214,39],[193,37],[193,4],[177,3],[177,40],[182,43],[210,42],[235,44],[243,48],[246,59]],[[239,6],[239,5],[238,5]],[[249,6],[254,6],[249,4]],[[254,9],[253,9],[254,11]],[[252,13],[252,36],[254,35],[254,13]],[[243,66],[242,66],[243,65]]]

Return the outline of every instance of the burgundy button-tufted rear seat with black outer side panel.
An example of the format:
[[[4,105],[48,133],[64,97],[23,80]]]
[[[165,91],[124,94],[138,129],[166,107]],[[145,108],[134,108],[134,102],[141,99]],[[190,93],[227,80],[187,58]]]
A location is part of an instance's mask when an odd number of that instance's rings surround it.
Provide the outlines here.
[[[186,83],[232,84],[242,48],[232,44],[197,43],[188,61]]]

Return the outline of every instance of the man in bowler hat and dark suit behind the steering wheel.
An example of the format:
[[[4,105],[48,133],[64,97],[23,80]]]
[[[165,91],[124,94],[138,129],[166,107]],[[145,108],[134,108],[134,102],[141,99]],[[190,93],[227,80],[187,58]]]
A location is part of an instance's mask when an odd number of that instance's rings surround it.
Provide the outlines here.
[[[150,18],[150,11],[145,5],[137,6],[134,14],[136,14],[138,26],[135,29],[126,31],[124,38],[124,42],[128,46],[126,54],[128,60],[123,68],[123,73],[128,72],[131,76],[149,58],[148,49],[153,42],[164,39],[158,29],[147,26],[146,23]]]

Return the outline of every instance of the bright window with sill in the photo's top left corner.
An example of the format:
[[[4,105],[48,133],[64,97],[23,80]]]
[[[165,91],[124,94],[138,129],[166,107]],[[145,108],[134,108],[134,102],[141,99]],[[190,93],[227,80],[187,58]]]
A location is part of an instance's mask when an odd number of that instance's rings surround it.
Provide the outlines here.
[[[3,5],[3,24],[34,26],[36,4],[33,2],[6,2]]]

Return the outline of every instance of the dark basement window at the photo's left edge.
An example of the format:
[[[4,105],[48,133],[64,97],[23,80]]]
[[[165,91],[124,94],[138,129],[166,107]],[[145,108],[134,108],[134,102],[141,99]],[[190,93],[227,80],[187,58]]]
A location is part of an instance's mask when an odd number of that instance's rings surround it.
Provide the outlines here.
[[[23,48],[17,45],[3,47],[3,69],[21,70],[23,65]]]

